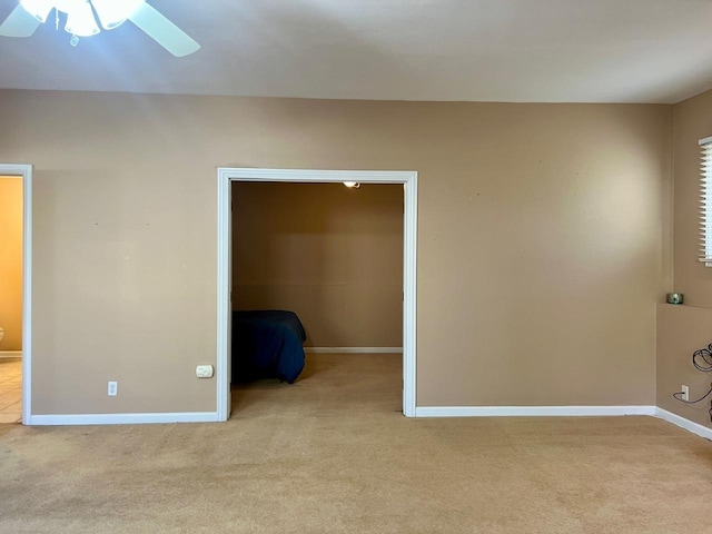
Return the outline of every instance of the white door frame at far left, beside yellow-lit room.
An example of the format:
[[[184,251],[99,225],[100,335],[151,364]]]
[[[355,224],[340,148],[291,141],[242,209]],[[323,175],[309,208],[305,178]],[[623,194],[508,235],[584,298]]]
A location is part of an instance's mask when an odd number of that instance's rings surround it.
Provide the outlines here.
[[[22,424],[32,418],[32,166],[0,164],[0,175],[22,178]]]

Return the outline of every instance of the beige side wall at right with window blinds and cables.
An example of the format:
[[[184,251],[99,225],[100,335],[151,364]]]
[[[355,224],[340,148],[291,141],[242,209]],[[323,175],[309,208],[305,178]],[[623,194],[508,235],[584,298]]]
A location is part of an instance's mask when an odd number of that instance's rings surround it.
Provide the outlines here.
[[[672,394],[685,384],[690,396],[696,398],[712,382],[712,376],[692,366],[692,353],[712,343],[712,268],[698,261],[698,140],[710,136],[712,91],[674,107],[674,278],[669,290],[683,293],[685,304],[681,309],[662,305],[657,312],[657,405],[705,426],[712,426],[709,400],[691,408],[673,400]]]

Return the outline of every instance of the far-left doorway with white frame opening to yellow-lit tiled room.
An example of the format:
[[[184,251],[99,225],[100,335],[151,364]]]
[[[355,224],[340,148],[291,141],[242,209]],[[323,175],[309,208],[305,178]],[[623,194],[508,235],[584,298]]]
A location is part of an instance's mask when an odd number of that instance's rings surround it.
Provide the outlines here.
[[[0,423],[31,424],[32,167],[0,164]],[[9,404],[8,404],[9,403]]]

